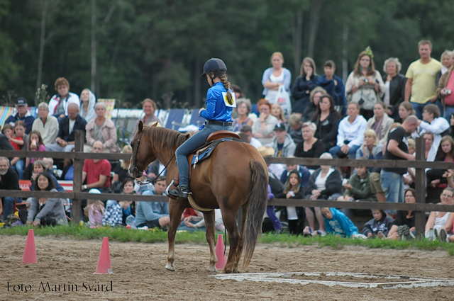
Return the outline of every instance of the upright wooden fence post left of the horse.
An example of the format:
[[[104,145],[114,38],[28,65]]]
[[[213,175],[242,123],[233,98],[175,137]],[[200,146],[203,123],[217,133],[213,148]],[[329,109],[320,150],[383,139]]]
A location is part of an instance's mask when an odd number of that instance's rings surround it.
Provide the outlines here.
[[[82,130],[76,130],[74,139],[74,152],[83,152],[84,150],[84,132]],[[74,159],[74,180],[72,185],[72,191],[79,193],[82,191],[82,166],[83,160]],[[72,223],[79,225],[80,218],[80,200],[72,200]]]

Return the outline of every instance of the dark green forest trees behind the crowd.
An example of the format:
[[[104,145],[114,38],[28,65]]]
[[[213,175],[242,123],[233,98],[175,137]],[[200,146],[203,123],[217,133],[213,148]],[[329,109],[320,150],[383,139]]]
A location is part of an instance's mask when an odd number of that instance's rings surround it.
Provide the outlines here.
[[[454,49],[454,6],[442,0],[0,0],[0,97],[11,103],[65,76],[70,91],[90,88],[99,98],[136,107],[143,98],[200,107],[208,84],[206,59],[226,62],[232,84],[256,102],[270,55],[299,75],[315,59],[317,73],[333,59],[346,79],[370,45],[376,68],[399,57],[402,73],[419,58]],[[171,99],[170,99],[171,98]]]

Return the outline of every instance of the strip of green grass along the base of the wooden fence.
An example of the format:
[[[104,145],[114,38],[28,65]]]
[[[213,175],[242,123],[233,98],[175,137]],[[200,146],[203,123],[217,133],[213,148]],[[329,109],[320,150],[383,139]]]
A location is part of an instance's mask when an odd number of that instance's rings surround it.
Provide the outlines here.
[[[160,229],[135,230],[123,227],[99,227],[87,228],[84,226],[63,225],[58,227],[13,227],[0,228],[0,235],[27,235],[28,229],[34,229],[37,236],[70,237],[73,239],[102,239],[109,237],[111,241],[118,242],[167,242],[167,232]],[[221,232],[218,232],[221,234]],[[183,244],[192,242],[207,244],[205,232],[177,232],[175,242]],[[289,234],[262,234],[258,238],[262,244],[282,244],[289,247],[297,247],[311,244],[319,246],[331,246],[333,249],[342,249],[343,246],[366,246],[371,249],[407,249],[416,248],[425,251],[444,250],[450,256],[454,255],[454,244],[431,241],[428,239],[414,239],[406,241],[393,241],[388,239],[348,239],[327,235],[326,237],[302,237]]]

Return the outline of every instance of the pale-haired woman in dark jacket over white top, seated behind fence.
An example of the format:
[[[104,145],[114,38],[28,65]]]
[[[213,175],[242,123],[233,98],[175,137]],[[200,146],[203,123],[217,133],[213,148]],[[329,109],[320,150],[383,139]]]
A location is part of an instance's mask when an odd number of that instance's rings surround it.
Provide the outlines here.
[[[320,159],[333,159],[330,153],[324,152],[321,154]],[[319,169],[316,169],[311,177],[306,188],[306,199],[311,200],[337,200],[342,196],[342,179],[341,173],[338,169],[333,168],[330,165],[321,165]],[[325,227],[323,223],[323,217],[320,212],[320,208],[309,208],[306,207],[306,218],[311,229],[315,229],[315,217],[319,221],[320,232],[322,236],[325,233]],[[314,210],[314,211],[313,211]]]

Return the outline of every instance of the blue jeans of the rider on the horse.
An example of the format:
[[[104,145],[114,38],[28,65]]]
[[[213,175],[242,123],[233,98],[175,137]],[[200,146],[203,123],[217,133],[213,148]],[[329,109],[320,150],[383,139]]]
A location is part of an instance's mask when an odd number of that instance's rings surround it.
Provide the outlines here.
[[[218,130],[233,130],[233,127],[225,127],[222,125],[205,125],[205,127],[196,132],[194,136],[186,140],[181,144],[175,155],[177,156],[177,165],[179,172],[179,186],[189,186],[189,164],[187,161],[187,156],[194,152],[195,149],[201,147],[206,143],[206,138]]]

